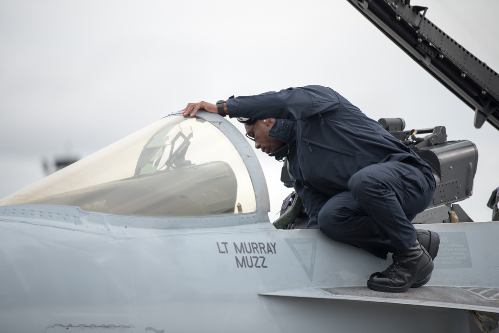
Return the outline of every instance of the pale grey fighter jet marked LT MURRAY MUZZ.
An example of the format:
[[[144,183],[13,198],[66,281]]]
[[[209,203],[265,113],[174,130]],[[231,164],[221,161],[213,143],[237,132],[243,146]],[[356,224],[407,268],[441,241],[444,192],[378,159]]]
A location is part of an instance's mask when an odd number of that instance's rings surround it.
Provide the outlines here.
[[[437,180],[413,222],[441,237],[427,285],[369,290],[387,261],[303,229],[296,197],[272,223],[244,135],[177,112],[0,200],[0,332],[499,332],[499,222],[456,203],[477,148],[380,123]]]

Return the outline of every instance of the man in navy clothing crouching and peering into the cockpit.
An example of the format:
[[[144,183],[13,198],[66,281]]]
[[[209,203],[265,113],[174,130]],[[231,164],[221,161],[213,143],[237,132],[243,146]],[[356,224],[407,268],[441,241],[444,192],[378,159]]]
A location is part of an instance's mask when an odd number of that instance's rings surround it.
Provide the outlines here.
[[[403,292],[430,280],[439,236],[411,221],[432,201],[435,178],[378,122],[317,85],[189,103],[183,115],[200,109],[238,117],[257,149],[287,159],[308,228],[384,259],[393,253],[393,264],[372,274],[369,288]]]

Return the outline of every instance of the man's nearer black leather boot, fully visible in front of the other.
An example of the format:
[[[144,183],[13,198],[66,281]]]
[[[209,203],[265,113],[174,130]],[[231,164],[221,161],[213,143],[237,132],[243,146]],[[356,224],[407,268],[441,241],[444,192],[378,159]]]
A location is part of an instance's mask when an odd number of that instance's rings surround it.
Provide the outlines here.
[[[433,271],[433,260],[418,240],[409,249],[395,252],[392,259],[393,264],[384,272],[371,274],[367,287],[381,292],[401,293]]]

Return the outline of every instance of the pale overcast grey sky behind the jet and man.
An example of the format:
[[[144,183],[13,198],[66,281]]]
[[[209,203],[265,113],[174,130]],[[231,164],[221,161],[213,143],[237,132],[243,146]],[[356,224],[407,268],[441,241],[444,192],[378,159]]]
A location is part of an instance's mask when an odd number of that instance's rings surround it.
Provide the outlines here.
[[[499,71],[499,3],[486,2],[412,4]],[[462,206],[490,220],[498,131],[475,129],[470,108],[345,0],[0,0],[0,197],[42,178],[43,158],[84,157],[188,102],[307,84],[376,120],[473,141],[475,191]],[[280,164],[257,156],[274,183]],[[273,220],[290,190],[269,187]]]

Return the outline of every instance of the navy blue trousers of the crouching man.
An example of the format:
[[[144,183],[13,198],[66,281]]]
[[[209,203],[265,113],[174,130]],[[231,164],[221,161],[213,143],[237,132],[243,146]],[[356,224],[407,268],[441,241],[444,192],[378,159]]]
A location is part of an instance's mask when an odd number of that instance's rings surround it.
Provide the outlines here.
[[[357,171],[348,181],[349,190],[330,198],[319,211],[320,230],[383,259],[388,252],[410,248],[417,238],[411,221],[433,199],[429,174],[398,161]]]

